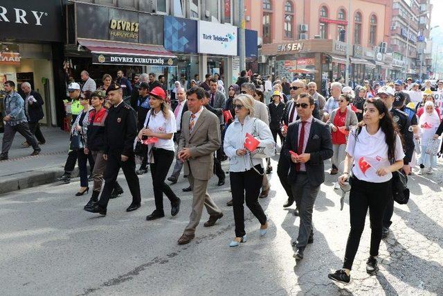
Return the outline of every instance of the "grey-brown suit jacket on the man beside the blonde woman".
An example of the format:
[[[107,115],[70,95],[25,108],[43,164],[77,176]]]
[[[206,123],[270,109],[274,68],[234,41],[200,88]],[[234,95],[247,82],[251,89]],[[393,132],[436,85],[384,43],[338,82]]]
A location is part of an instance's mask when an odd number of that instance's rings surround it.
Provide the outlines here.
[[[209,180],[213,175],[213,153],[220,148],[220,128],[217,116],[203,107],[192,133],[189,132],[191,112],[186,111],[182,116],[183,126],[179,139],[179,148],[190,148],[191,158],[184,163],[184,174],[197,180]]]

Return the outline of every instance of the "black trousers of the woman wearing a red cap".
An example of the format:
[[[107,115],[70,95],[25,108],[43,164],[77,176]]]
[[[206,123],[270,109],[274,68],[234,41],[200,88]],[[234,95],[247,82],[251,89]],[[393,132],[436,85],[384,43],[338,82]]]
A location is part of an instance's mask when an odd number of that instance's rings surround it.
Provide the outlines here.
[[[179,198],[168,184],[165,183],[166,176],[174,161],[174,151],[162,148],[153,148],[152,155],[154,164],[150,164],[152,187],[154,188],[155,209],[163,213],[163,193],[168,197],[171,204],[177,203]]]

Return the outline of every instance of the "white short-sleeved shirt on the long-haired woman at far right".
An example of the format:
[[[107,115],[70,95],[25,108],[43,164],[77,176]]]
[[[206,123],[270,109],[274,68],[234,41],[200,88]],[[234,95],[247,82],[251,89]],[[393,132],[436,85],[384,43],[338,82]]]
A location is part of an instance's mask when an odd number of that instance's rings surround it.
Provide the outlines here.
[[[392,178],[392,173],[388,173],[383,177],[377,175],[376,171],[379,168],[386,168],[390,166],[388,157],[388,145],[386,144],[386,136],[383,130],[379,130],[375,134],[368,134],[366,127],[361,128],[358,140],[355,138],[356,129],[352,130],[347,138],[346,152],[354,157],[352,166],[352,173],[354,176],[362,181],[372,183],[387,182]],[[395,161],[404,158],[403,146],[401,146],[401,139],[397,134],[395,140]],[[364,173],[359,166],[359,160],[367,162],[370,165]]]

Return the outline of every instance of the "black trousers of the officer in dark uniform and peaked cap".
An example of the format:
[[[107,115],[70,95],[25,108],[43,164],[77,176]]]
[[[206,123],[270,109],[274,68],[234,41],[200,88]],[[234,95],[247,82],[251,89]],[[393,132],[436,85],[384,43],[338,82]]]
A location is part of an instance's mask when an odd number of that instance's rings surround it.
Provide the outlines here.
[[[136,159],[134,155],[130,155],[126,162],[122,162],[120,151],[110,151],[103,177],[105,186],[103,186],[102,195],[100,195],[100,201],[98,202],[102,207],[106,208],[108,205],[120,168],[123,169],[129,191],[131,191],[132,203],[141,204],[140,184],[136,174]]]

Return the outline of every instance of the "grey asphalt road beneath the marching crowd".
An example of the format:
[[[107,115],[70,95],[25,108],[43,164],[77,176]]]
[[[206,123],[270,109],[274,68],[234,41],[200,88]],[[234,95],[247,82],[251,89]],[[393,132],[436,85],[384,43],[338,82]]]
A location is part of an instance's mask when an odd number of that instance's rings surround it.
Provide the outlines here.
[[[274,171],[276,163],[273,162]],[[443,167],[440,166],[440,171]],[[111,200],[108,214],[83,211],[89,196],[75,197],[79,180],[0,195],[1,295],[443,295],[443,198],[441,173],[410,178],[407,205],[395,205],[390,236],[381,243],[377,276],[365,272],[370,227],[356,255],[351,284],[335,284],[327,273],[341,268],[349,231],[349,207],[340,211],[341,191],[327,174],[314,209],[314,244],[305,259],[293,259],[298,217],[283,209],[286,200],[271,176],[269,198],[260,200],[270,230],[260,238],[259,223],[246,209],[248,242],[228,247],[235,236],[233,211],[226,207],[229,182],[209,193],[225,216],[203,227],[196,238],[177,245],[190,214],[191,195],[182,179],[172,186],[182,203],[178,216],[146,221],[154,209],[150,173],[141,177],[143,204],[132,213],[125,193]],[[227,179],[228,180],[228,179]],[[89,193],[91,195],[91,192]]]

